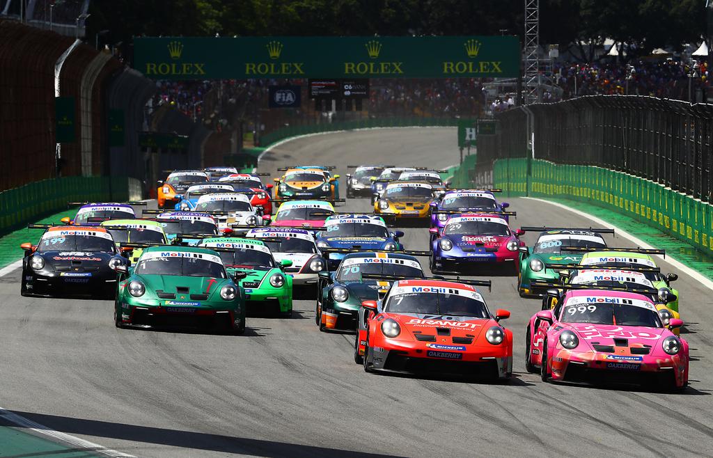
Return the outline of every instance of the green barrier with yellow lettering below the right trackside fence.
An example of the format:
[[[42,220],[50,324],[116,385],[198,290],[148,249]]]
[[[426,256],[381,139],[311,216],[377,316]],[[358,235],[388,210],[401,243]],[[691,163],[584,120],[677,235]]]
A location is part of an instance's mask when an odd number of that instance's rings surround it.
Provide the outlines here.
[[[556,197],[610,208],[713,254],[711,205],[646,179],[600,167],[518,158],[495,162],[493,186],[508,196]]]

